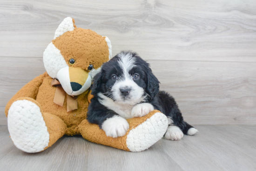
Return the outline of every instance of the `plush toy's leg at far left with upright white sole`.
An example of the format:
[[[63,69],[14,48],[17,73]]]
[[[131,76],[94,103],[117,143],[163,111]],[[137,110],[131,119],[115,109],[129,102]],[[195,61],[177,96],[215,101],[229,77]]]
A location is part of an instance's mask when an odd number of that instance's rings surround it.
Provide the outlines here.
[[[47,149],[67,130],[61,118],[42,112],[40,104],[32,98],[20,98],[13,102],[7,122],[14,145],[31,153]]]

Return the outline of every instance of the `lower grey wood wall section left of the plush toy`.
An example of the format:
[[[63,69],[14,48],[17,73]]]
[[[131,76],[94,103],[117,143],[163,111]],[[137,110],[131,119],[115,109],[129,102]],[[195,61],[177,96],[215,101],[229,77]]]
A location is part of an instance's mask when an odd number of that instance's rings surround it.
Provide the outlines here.
[[[5,106],[13,95],[35,77],[43,74],[42,58],[0,57],[5,64],[0,67],[0,125],[7,125]]]

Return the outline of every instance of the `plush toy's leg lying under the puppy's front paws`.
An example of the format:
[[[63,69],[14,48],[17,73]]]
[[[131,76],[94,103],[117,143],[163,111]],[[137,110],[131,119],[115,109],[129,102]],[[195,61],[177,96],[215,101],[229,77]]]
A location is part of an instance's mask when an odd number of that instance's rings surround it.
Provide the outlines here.
[[[118,138],[107,137],[99,125],[91,124],[87,119],[79,125],[83,138],[93,143],[108,145],[126,151],[143,151],[160,140],[168,127],[167,117],[159,112],[152,111],[139,118],[127,119],[129,129]]]

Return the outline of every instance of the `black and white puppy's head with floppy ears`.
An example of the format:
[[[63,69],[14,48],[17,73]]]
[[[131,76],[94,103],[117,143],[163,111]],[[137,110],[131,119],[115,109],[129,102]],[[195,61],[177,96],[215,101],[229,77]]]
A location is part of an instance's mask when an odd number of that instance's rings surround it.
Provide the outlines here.
[[[146,61],[136,53],[121,52],[103,64],[94,77],[92,94],[100,93],[116,103],[135,105],[153,99],[159,83]]]

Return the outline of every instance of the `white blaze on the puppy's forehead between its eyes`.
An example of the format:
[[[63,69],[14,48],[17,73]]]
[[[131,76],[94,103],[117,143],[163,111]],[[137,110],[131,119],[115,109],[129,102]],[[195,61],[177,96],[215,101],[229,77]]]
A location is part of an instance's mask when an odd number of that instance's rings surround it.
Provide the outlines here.
[[[129,71],[135,66],[135,58],[132,57],[132,53],[120,53],[118,56],[120,58],[118,64],[123,71],[121,78],[128,79],[130,78]]]

